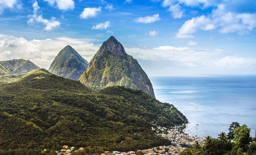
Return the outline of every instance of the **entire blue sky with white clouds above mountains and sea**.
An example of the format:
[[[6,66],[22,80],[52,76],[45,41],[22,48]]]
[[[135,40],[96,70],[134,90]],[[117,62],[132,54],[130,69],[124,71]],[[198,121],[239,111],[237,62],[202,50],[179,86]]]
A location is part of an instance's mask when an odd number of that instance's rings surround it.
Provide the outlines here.
[[[148,75],[256,74],[254,0],[0,0],[0,60],[90,61],[115,36]]]

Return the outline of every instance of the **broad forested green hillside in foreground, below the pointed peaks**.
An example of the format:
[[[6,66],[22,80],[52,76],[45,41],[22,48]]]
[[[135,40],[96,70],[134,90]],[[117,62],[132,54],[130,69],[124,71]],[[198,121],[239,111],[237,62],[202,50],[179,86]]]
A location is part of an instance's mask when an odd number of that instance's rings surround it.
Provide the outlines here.
[[[168,145],[151,128],[187,119],[172,104],[120,86],[93,92],[79,81],[37,69],[0,83],[0,154],[42,154],[62,145],[134,150]]]

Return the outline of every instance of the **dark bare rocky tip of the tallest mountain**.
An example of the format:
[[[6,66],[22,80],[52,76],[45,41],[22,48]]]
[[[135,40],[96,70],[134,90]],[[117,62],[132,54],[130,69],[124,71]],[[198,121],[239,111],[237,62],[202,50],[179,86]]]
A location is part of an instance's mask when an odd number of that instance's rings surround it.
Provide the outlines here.
[[[111,54],[117,55],[119,57],[126,58],[127,54],[121,45],[121,43],[113,36],[108,40],[104,41],[99,49],[100,53],[109,52]]]

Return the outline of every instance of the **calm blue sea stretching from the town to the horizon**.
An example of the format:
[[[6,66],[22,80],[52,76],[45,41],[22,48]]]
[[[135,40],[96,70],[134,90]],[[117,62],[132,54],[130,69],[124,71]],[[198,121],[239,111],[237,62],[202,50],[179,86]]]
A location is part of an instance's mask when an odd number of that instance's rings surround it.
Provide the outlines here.
[[[150,77],[156,98],[174,104],[189,135],[217,138],[231,122],[256,129],[256,76]]]

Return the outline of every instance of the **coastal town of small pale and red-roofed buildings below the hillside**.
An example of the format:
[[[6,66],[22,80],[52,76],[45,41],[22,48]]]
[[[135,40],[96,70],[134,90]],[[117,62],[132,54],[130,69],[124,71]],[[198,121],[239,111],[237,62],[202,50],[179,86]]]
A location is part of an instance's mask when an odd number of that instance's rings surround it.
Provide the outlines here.
[[[185,148],[189,146],[193,146],[195,142],[199,142],[201,145],[204,144],[204,138],[199,138],[197,136],[189,136],[183,132],[185,124],[175,126],[173,128],[164,128],[160,126],[152,127],[152,130],[156,130],[157,135],[168,139],[172,142],[172,145],[169,146],[158,146],[149,149],[143,150],[133,150],[128,152],[119,152],[119,151],[105,151],[101,153],[101,155],[136,155],[136,154],[144,154],[144,155],[166,155],[166,154],[179,154]],[[63,148],[59,151],[56,151],[57,155],[71,155],[77,151],[84,150],[84,147],[80,147],[75,149],[74,146],[69,147],[68,145],[64,145]]]

